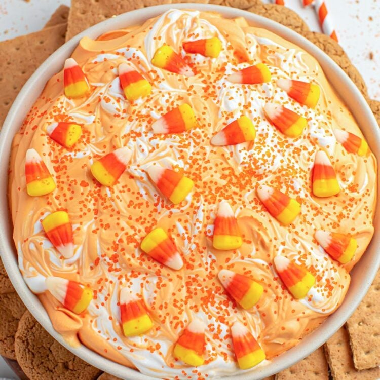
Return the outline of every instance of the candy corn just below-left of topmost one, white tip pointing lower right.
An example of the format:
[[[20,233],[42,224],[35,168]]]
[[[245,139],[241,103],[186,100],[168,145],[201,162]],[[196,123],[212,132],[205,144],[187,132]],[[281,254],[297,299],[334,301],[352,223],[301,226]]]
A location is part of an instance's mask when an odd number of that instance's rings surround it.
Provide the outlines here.
[[[156,51],[151,63],[156,67],[185,75],[186,77],[194,76],[191,67],[168,45],[163,45]]]

